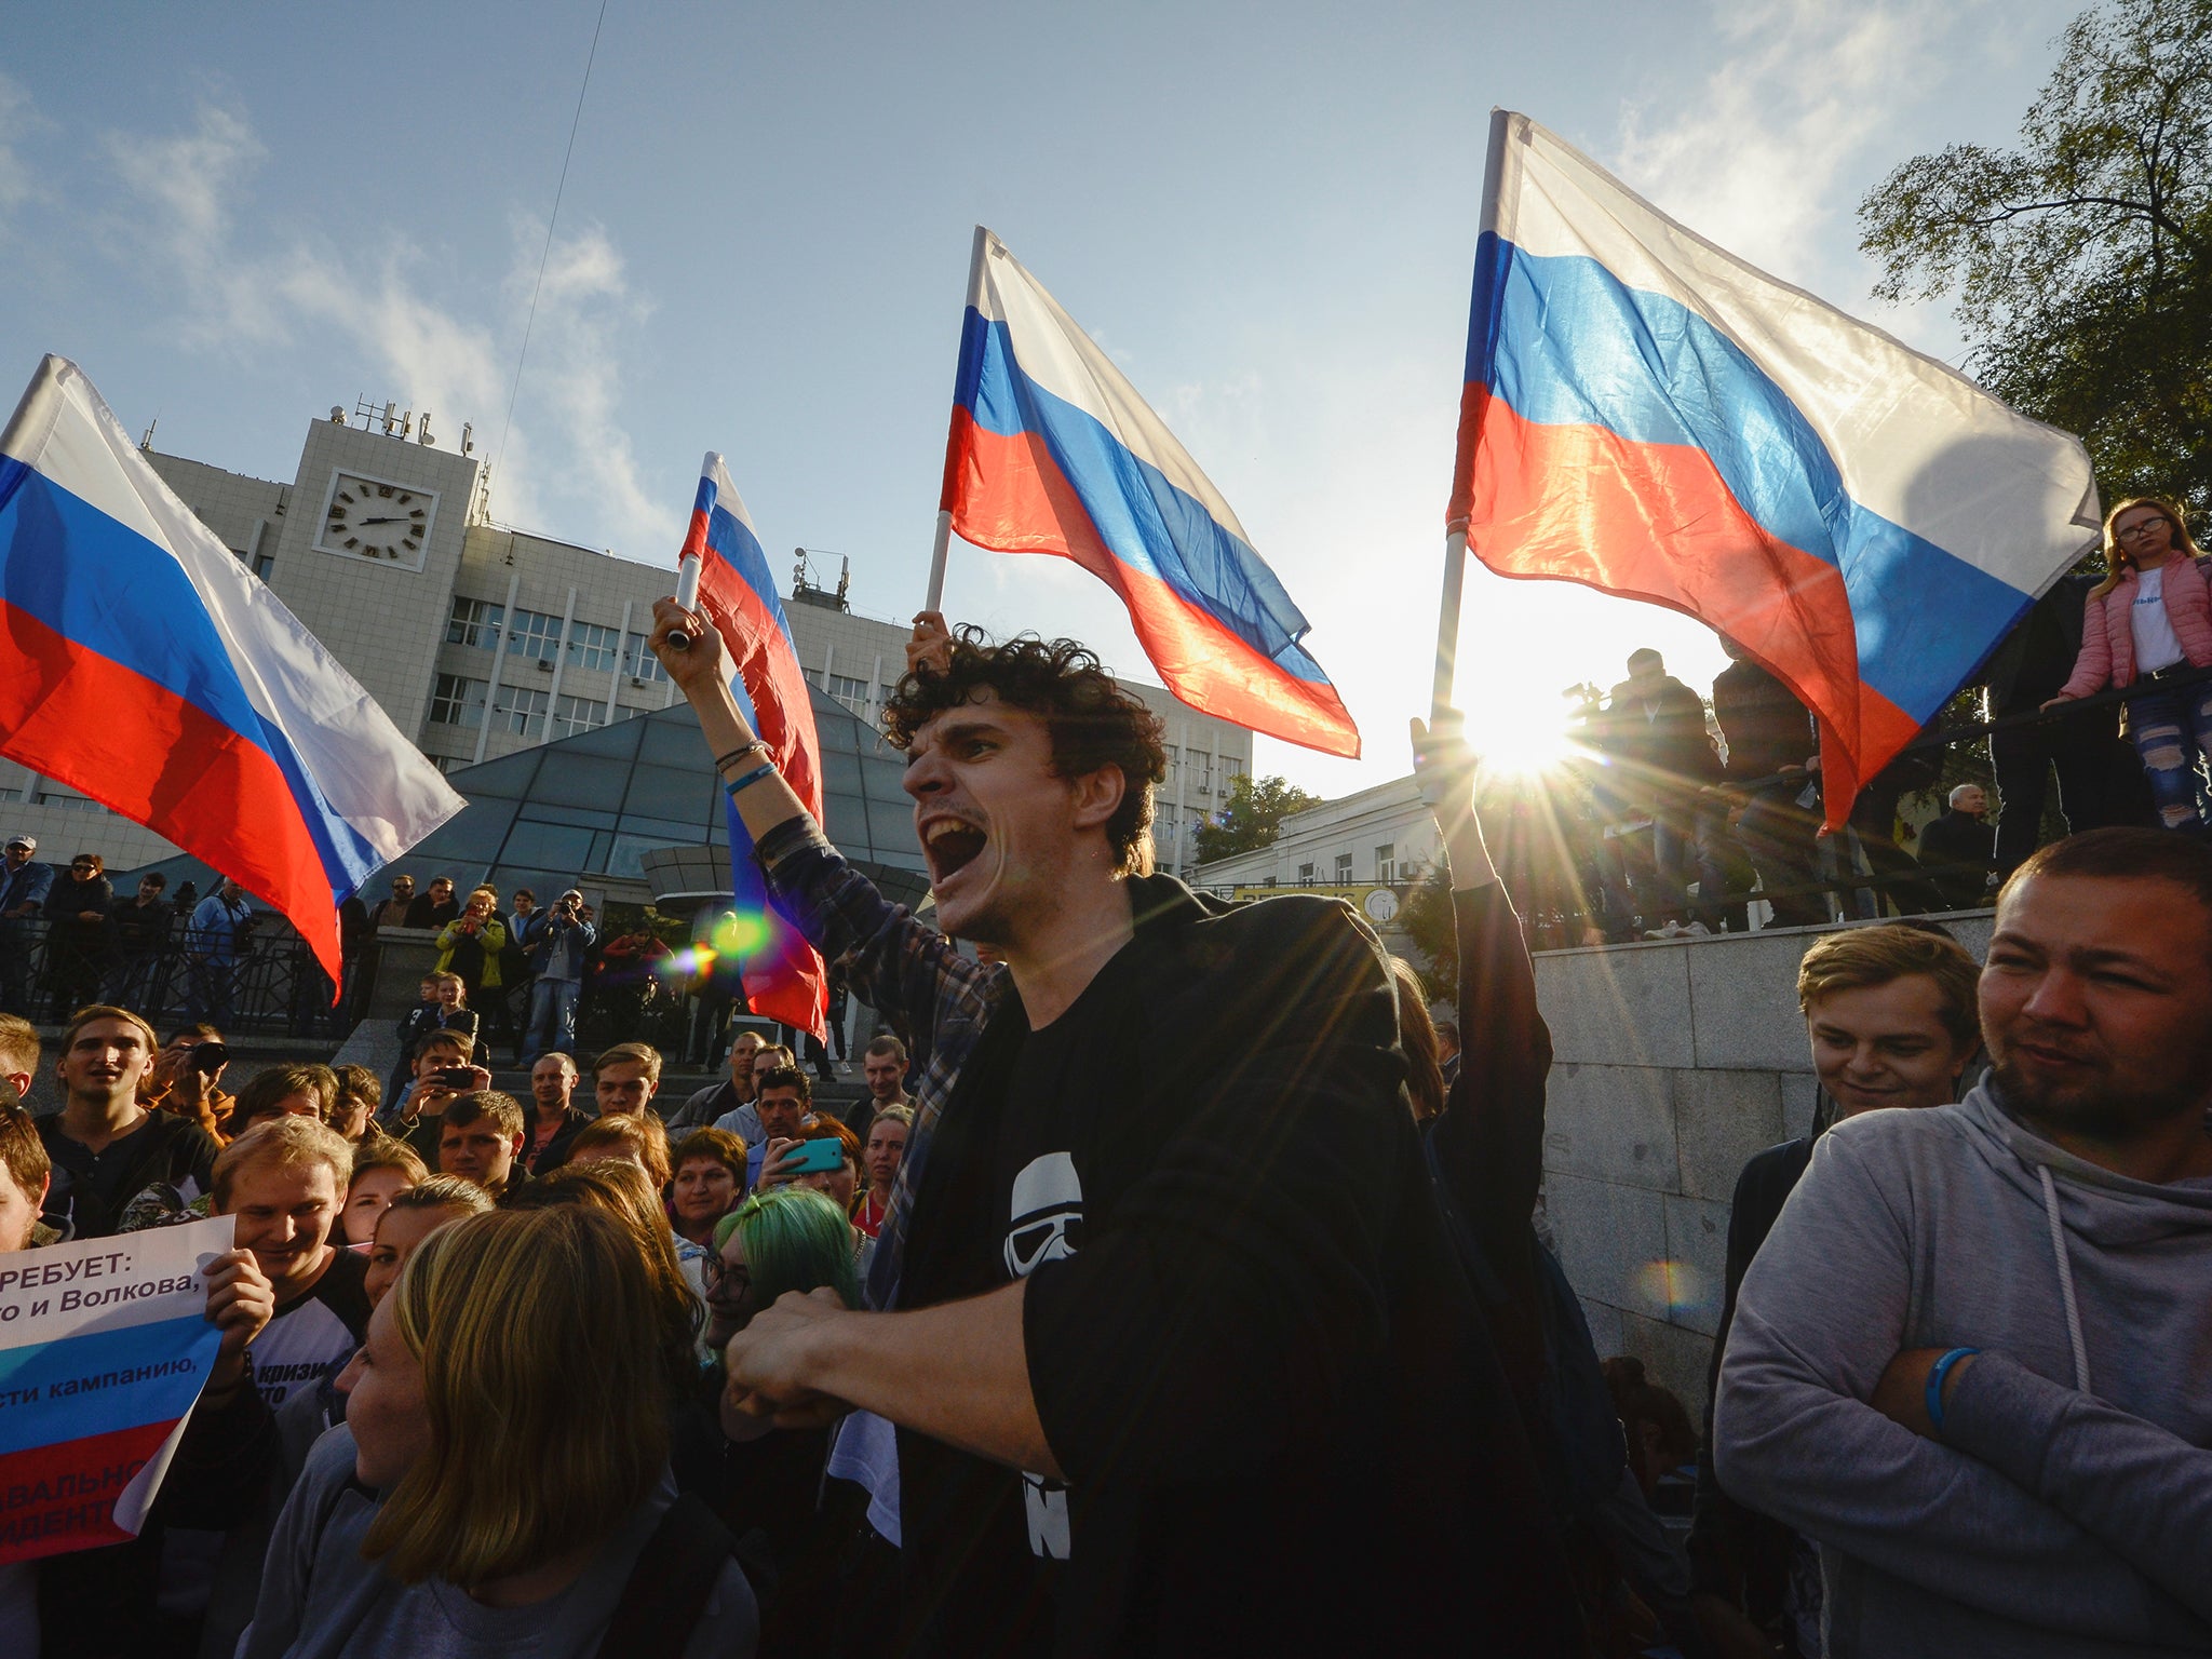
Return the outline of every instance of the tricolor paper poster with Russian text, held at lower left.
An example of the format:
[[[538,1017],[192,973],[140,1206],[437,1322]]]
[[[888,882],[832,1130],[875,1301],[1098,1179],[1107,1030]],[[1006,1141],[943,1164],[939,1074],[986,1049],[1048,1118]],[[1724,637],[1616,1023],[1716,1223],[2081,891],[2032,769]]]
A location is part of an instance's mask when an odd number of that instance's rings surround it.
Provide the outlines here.
[[[137,1537],[221,1332],[232,1217],[0,1254],[0,1562]]]

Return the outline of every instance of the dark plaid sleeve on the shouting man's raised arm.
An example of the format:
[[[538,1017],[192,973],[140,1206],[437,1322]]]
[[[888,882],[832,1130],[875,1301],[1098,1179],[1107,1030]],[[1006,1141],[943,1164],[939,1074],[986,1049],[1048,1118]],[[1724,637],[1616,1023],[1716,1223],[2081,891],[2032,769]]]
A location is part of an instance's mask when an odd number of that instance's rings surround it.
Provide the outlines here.
[[[878,1013],[922,1033],[945,1004],[982,1011],[984,969],[878,894],[807,814],[761,836],[754,860],[776,909],[825,962],[845,960],[854,995]]]

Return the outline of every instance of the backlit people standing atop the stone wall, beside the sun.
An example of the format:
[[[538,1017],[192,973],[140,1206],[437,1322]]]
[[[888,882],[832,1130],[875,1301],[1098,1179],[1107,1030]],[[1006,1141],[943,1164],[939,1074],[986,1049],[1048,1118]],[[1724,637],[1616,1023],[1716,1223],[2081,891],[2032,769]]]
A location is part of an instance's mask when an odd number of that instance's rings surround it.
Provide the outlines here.
[[[1986,719],[1931,721],[1838,836],[1820,834],[1818,723],[1781,679],[1723,639],[1708,699],[1637,650],[1608,697],[1579,688],[1573,765],[1500,785],[1500,867],[1524,918],[1542,942],[1599,945],[1741,933],[1754,902],[1783,927],[1973,909],[2048,838],[2046,803],[2062,834],[2205,834],[2212,562],[2163,498],[2115,507],[2104,551],[2101,580],[2059,580],[1984,664]],[[1942,781],[1944,743],[1984,734],[1986,768],[1944,790],[1913,843],[1900,803]]]

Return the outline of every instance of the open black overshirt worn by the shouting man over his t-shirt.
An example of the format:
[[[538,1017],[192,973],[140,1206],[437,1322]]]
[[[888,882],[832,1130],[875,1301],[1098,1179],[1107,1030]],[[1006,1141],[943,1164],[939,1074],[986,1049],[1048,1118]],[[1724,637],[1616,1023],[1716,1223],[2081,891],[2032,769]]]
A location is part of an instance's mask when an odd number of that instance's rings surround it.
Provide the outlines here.
[[[1037,1416],[1082,1500],[1053,1650],[1573,1650],[1374,933],[1318,896],[1150,876],[1130,900],[1137,1086],[1088,1148],[1082,1248],[1026,1279]],[[984,1071],[980,1048],[914,1194],[914,1305],[945,1170],[989,1155],[951,1128]],[[916,1531],[909,1568],[953,1571]]]

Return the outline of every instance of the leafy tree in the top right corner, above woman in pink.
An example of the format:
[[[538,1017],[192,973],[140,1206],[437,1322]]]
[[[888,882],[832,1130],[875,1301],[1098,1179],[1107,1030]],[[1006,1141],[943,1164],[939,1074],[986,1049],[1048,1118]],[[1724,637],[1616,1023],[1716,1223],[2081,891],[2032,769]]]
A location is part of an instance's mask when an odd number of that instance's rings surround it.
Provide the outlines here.
[[[2081,434],[2106,500],[2212,509],[2212,0],[2084,11],[2017,148],[1916,155],[1858,223],[1876,294],[1953,296],[1975,378]]]

